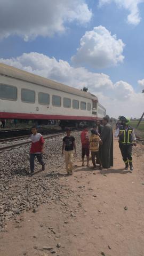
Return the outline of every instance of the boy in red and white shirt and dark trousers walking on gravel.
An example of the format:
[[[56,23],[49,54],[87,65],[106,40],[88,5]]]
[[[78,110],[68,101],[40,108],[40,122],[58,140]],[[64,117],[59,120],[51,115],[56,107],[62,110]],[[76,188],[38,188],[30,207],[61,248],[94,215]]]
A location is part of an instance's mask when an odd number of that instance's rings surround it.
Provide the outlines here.
[[[41,133],[37,132],[37,127],[33,126],[31,128],[31,147],[30,147],[30,172],[31,175],[34,174],[34,162],[35,156],[37,157],[38,162],[42,165],[42,171],[45,169],[45,164],[43,162],[43,146],[44,146],[44,139]]]

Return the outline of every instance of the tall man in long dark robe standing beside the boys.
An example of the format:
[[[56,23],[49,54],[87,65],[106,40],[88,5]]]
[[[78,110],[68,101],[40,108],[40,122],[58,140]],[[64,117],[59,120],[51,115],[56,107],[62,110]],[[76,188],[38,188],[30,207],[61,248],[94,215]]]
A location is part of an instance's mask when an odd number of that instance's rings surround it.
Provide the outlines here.
[[[103,168],[110,168],[113,166],[113,129],[108,124],[108,118],[103,118],[103,130],[101,140],[103,142],[101,147],[101,162]]]

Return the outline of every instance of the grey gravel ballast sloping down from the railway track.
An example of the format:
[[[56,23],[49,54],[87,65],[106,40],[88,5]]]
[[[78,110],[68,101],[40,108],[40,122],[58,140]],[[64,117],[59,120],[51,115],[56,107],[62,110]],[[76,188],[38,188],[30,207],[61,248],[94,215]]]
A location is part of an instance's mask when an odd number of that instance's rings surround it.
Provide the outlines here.
[[[77,158],[81,158],[80,132],[73,132],[77,144]],[[59,178],[66,173],[61,156],[63,136],[45,140],[45,171],[35,159],[35,175],[29,177],[29,145],[4,151],[0,154],[0,231],[5,230],[8,219],[22,211],[37,211],[37,207],[49,201],[61,202],[61,198],[73,191],[59,185]],[[65,192],[65,193],[64,193]]]

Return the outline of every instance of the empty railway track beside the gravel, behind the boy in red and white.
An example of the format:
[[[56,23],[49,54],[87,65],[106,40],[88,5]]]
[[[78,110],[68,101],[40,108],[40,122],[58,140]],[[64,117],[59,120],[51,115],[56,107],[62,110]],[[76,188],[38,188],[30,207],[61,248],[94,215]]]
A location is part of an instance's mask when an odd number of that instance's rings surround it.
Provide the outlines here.
[[[54,137],[61,136],[65,134],[66,132],[57,132],[53,134],[47,134],[43,135],[44,139],[51,139]],[[13,148],[18,148],[21,146],[25,146],[31,143],[30,135],[24,135],[20,137],[14,137],[14,138],[9,138],[9,139],[2,139],[0,140],[0,153],[2,153],[5,150],[11,150]]]

